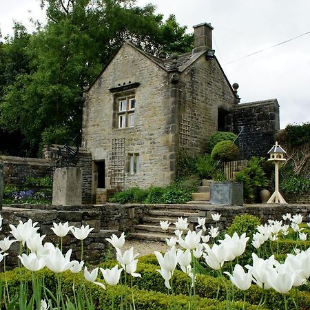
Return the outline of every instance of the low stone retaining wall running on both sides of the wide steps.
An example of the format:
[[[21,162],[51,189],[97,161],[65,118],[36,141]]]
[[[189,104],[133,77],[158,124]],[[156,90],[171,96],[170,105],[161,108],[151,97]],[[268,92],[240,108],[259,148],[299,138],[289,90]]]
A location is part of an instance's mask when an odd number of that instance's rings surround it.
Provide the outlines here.
[[[167,205],[173,208],[173,205]],[[243,205],[242,207],[228,207],[220,205],[186,205],[187,209],[198,211],[199,217],[207,218],[207,226],[214,225],[211,214],[221,214],[218,225],[221,229],[232,223],[236,215],[252,214],[267,222],[269,218],[282,220],[282,214],[302,214],[304,219],[310,214],[310,205]],[[50,229],[53,223],[69,222],[70,225],[80,227],[90,225],[94,230],[89,237],[84,240],[84,258],[91,265],[97,265],[105,255],[105,250],[110,247],[105,238],[110,238],[112,234],[121,234],[122,231],[131,231],[132,227],[142,222],[143,216],[147,216],[150,209],[156,205],[81,205],[81,206],[54,206],[54,205],[5,205],[0,211],[3,217],[0,240],[5,236],[10,236],[9,224],[17,225],[19,220],[27,221],[29,218],[33,222],[38,222],[39,233],[45,234],[44,242],[59,244],[60,240]],[[182,205],[178,205],[182,209]],[[309,221],[309,218],[307,218]],[[195,225],[197,218],[189,218]],[[7,261],[8,267],[17,265],[17,254],[19,251],[18,242],[14,242],[10,248]],[[63,238],[63,251],[72,249],[72,259],[81,257],[81,241],[76,240],[72,233]]]

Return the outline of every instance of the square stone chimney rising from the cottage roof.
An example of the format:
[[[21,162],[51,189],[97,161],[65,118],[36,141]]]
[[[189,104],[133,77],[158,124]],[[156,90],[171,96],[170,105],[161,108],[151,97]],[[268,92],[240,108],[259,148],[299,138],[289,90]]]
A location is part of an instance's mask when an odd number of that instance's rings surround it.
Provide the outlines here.
[[[214,29],[210,23],[200,23],[194,25],[195,46],[193,53],[202,52],[204,50],[212,50],[212,30]]]

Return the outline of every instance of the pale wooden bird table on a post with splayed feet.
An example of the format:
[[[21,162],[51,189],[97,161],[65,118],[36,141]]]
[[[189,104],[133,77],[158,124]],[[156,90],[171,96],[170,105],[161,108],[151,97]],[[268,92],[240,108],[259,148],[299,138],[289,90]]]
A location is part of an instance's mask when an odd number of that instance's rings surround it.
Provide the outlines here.
[[[271,149],[269,150],[268,154],[270,154],[270,158],[268,161],[273,161],[275,164],[275,191],[267,201],[267,203],[287,203],[285,201],[285,198],[282,197],[282,195],[279,192],[279,164],[281,161],[286,161],[284,158],[285,150],[282,149],[280,145],[278,145],[278,142],[276,142],[276,145],[273,145]]]

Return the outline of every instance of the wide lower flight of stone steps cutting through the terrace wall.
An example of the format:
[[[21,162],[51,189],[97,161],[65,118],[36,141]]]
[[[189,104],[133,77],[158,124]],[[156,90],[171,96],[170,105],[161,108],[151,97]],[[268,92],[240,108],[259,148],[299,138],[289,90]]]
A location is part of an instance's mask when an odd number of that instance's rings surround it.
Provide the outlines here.
[[[140,240],[165,241],[174,235],[175,225],[178,217],[187,218],[189,229],[194,229],[197,223],[198,212],[192,209],[191,205],[156,205],[149,210],[149,214],[143,217],[142,223],[134,225],[130,238]],[[168,220],[172,223],[166,232],[161,229],[160,221]]]

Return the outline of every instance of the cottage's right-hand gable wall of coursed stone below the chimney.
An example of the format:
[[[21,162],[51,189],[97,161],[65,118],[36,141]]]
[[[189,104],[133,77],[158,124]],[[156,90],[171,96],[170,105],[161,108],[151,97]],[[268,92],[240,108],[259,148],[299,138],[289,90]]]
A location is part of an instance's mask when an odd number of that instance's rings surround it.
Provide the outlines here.
[[[183,87],[179,127],[182,130],[182,123],[185,123],[188,138],[188,143],[184,143],[180,136],[180,147],[189,153],[204,153],[210,136],[218,131],[219,110],[231,114],[236,96],[218,61],[215,58],[205,59],[204,54],[181,74],[178,87]]]

